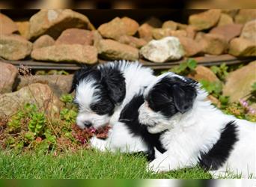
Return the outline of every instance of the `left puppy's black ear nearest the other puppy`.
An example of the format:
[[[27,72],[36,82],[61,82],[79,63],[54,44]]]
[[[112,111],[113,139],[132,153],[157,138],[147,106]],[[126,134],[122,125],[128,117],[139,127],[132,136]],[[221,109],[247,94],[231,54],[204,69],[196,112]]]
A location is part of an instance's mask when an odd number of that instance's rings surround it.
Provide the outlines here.
[[[119,103],[124,100],[126,84],[123,74],[118,70],[105,70],[102,72],[102,81],[106,84],[112,102]]]

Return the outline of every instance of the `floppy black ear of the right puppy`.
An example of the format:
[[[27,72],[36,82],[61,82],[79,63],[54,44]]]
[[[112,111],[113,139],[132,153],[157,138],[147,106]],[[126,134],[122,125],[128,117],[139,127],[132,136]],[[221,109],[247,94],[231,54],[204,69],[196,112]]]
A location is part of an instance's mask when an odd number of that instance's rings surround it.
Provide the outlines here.
[[[184,113],[192,108],[195,97],[197,96],[196,89],[193,85],[173,85],[174,105],[180,113]]]

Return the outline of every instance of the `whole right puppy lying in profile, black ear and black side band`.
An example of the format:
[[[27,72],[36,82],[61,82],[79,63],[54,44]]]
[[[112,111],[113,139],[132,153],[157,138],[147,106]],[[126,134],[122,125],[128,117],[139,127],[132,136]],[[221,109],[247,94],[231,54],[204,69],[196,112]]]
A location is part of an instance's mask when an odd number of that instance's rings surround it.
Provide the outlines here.
[[[240,120],[207,101],[192,79],[165,73],[144,91],[138,120],[167,150],[148,165],[161,172],[200,165],[214,177],[230,172],[256,177],[256,124]]]

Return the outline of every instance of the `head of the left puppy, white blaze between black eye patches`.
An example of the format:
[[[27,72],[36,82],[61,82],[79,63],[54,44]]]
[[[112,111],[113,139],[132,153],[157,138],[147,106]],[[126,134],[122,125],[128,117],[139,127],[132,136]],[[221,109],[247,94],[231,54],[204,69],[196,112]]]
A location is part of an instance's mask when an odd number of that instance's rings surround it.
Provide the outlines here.
[[[96,129],[109,123],[115,104],[124,96],[116,96],[115,83],[117,76],[109,73],[107,76],[97,68],[85,67],[77,71],[73,78],[76,88],[74,102],[79,106],[76,123],[80,128],[94,127]],[[123,97],[122,97],[123,96]]]

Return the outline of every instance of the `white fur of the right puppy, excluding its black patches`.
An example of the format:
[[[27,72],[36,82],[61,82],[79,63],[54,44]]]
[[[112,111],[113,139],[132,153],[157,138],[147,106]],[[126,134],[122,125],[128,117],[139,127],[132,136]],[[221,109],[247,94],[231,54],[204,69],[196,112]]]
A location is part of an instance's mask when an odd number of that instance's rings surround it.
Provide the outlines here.
[[[176,75],[165,73],[159,76],[144,92],[145,96],[165,76]],[[207,93],[199,84],[197,92],[198,95],[189,111],[184,114],[178,112],[170,118],[150,109],[147,102],[139,108],[138,119],[140,123],[148,126],[149,132],[166,130],[161,135],[160,141],[167,151],[163,154],[158,153],[147,169],[161,172],[194,167],[201,159],[200,153],[208,153],[219,140],[225,125],[234,120],[238,141],[234,144],[234,149],[231,150],[225,164],[212,174],[223,176],[231,171],[246,178],[256,177],[256,123],[223,114],[207,101]]]

